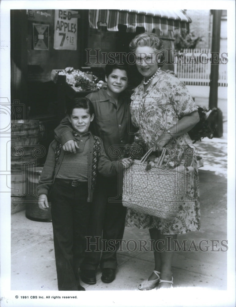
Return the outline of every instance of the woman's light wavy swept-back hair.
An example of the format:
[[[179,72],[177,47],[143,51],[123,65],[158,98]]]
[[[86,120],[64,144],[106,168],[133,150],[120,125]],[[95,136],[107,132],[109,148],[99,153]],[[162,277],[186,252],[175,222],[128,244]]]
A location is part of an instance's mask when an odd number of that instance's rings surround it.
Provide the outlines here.
[[[129,44],[129,49],[135,52],[137,47],[148,46],[151,47],[156,53],[161,54],[159,57],[160,65],[164,64],[165,49],[163,41],[155,33],[141,33],[132,39]]]

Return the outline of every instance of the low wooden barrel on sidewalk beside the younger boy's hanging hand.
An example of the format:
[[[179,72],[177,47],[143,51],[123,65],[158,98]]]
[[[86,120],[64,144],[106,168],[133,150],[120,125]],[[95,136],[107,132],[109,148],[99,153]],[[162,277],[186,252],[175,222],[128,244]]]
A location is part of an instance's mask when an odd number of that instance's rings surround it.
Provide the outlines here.
[[[28,186],[36,187],[39,183],[40,174],[43,167],[36,167],[34,169],[28,169],[27,184]],[[51,222],[51,203],[49,202],[48,210],[42,210],[38,205],[38,197],[34,193],[26,196],[26,206],[25,206],[25,216],[29,220],[38,221],[38,222]]]

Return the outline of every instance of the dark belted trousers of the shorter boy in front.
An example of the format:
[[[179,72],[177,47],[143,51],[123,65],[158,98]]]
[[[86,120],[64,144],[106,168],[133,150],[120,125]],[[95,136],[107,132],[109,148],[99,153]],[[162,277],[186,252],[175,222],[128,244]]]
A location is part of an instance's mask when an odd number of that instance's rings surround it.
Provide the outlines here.
[[[51,214],[58,290],[78,290],[78,268],[84,258],[91,209],[87,197],[87,182],[73,187],[71,180],[55,180]]]

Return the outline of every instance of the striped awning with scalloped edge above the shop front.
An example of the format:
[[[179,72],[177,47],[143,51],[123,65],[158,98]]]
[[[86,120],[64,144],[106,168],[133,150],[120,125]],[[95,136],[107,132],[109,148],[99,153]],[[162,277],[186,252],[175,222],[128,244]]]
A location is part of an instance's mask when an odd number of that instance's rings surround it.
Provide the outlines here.
[[[108,31],[118,31],[118,25],[126,25],[127,32],[135,32],[136,27],[143,27],[145,32],[152,33],[159,29],[161,35],[168,31],[180,33],[189,30],[191,19],[183,10],[89,10],[89,25],[98,29],[99,23],[107,25]]]

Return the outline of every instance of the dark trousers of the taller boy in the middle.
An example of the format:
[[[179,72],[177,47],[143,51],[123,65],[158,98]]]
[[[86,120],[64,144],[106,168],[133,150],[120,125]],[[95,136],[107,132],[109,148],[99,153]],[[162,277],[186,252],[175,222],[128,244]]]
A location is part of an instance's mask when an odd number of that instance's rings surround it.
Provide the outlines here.
[[[88,226],[90,237],[81,270],[96,270],[99,264],[101,269],[117,267],[116,253],[124,234],[126,208],[122,206],[122,191],[115,202],[108,202],[108,198],[118,196],[118,187],[118,177],[97,178]]]

